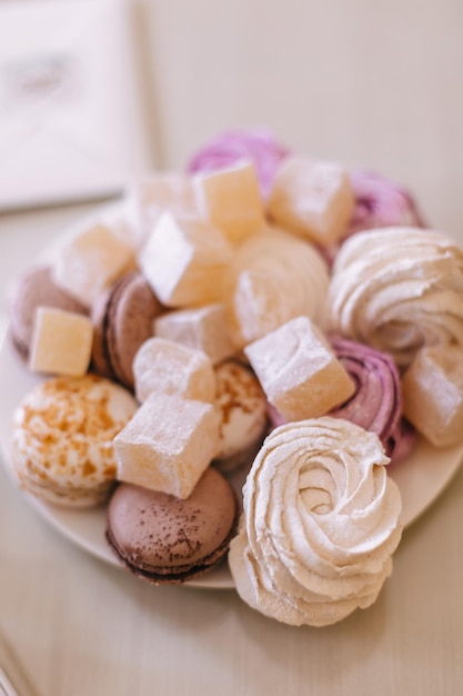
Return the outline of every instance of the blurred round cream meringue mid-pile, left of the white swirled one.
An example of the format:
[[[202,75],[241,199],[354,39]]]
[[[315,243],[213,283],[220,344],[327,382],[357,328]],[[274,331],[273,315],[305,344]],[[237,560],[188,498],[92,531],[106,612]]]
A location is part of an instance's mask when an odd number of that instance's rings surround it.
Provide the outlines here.
[[[278,228],[242,243],[224,284],[236,348],[299,316],[324,321],[326,264],[309,242]]]

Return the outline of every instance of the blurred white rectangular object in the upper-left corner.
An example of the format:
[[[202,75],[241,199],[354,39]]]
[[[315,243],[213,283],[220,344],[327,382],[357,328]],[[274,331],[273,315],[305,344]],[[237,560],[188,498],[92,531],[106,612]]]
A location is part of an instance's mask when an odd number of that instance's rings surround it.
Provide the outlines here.
[[[0,2],[0,210],[113,196],[155,165],[131,12]]]

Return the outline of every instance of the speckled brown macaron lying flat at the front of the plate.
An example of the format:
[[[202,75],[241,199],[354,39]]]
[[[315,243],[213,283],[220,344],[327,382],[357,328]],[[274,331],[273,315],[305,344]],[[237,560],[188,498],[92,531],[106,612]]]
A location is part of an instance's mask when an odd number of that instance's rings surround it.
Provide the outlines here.
[[[232,487],[209,467],[187,499],[120,484],[108,508],[107,538],[134,575],[157,585],[184,583],[224,557],[236,518]]]

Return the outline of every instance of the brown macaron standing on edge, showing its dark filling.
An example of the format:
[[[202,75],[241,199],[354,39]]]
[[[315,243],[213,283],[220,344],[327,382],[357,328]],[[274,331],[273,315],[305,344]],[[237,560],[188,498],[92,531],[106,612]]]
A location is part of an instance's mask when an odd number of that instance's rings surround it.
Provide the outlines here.
[[[94,371],[133,389],[133,358],[153,335],[153,319],[161,311],[161,304],[141,274],[119,278],[92,308]]]

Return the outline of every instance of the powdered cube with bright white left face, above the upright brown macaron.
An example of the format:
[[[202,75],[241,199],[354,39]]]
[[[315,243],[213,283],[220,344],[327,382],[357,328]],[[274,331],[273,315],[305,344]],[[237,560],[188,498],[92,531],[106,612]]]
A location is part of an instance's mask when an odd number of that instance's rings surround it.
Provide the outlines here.
[[[167,307],[197,307],[221,299],[231,258],[231,246],[211,222],[165,212],[140,253],[140,266]]]

